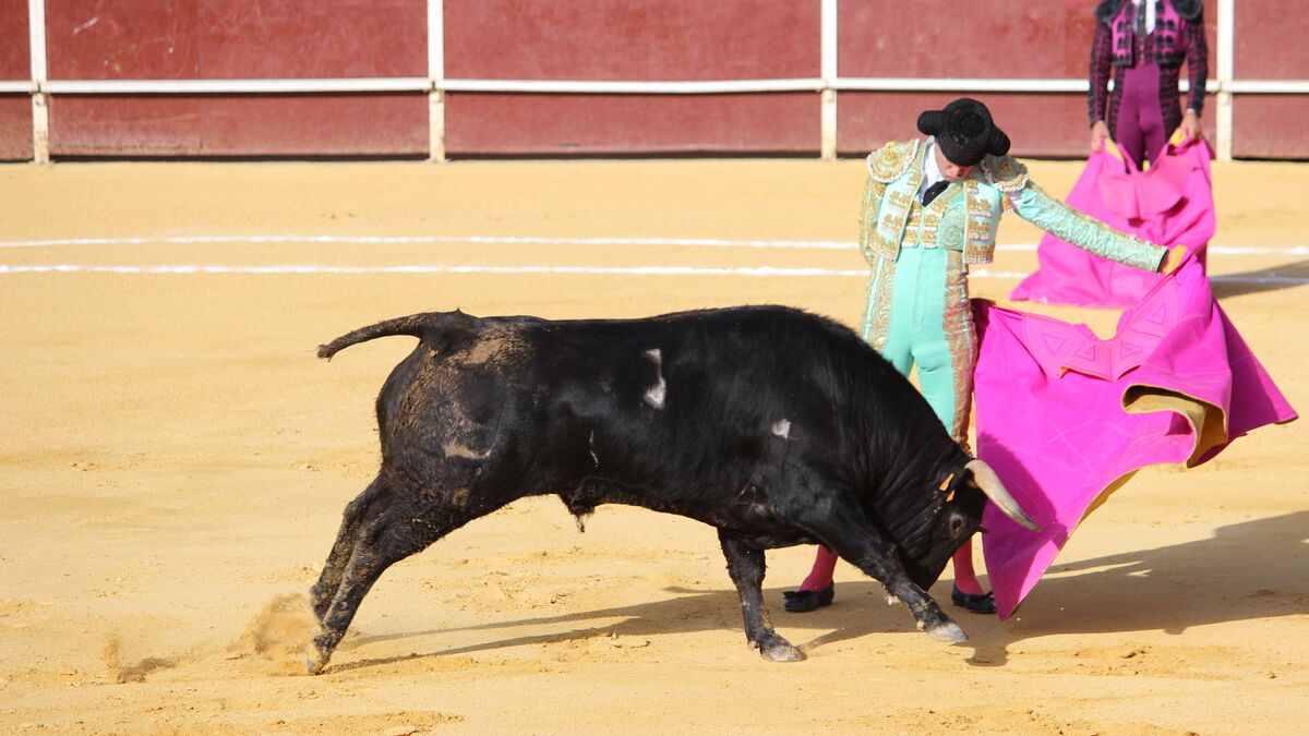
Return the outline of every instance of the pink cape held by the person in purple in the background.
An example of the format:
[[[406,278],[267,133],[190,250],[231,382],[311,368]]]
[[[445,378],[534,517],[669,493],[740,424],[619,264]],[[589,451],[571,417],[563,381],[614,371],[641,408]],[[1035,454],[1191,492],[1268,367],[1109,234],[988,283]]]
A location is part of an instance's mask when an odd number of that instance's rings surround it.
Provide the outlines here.
[[[1185,245],[1203,266],[1213,236],[1213,194],[1204,140],[1169,144],[1145,172],[1105,151],[1086,160],[1067,203],[1113,228],[1169,248]],[[1052,234],[1037,248],[1041,266],[1009,299],[1075,306],[1134,306],[1162,276],[1115,263]]]

